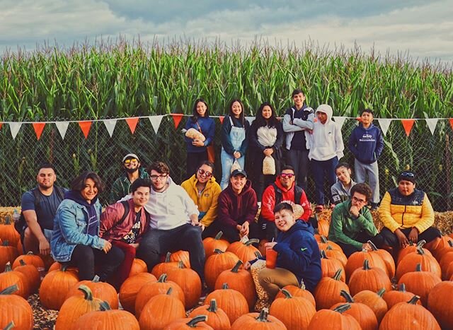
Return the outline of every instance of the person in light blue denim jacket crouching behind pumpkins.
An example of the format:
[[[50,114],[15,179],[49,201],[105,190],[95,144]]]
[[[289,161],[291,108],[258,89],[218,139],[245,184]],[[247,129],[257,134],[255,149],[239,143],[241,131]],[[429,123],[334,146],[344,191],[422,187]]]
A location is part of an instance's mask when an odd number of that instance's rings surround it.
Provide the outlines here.
[[[103,189],[95,172],[84,172],[71,182],[71,190],[57,209],[54,219],[52,257],[60,263],[76,266],[79,280],[91,280],[95,275],[105,281],[124,259],[124,253],[99,237],[101,203],[98,194]]]

